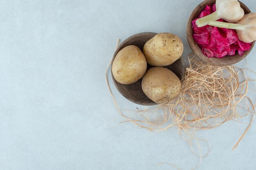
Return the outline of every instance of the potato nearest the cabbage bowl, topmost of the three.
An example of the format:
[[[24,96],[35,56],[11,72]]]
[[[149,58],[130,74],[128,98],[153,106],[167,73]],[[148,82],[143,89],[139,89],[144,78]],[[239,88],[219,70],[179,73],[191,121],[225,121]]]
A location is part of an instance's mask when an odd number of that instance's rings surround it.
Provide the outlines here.
[[[183,52],[183,43],[171,33],[160,33],[150,39],[143,48],[148,64],[166,66],[179,59]]]

